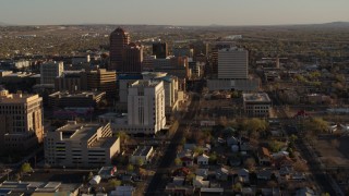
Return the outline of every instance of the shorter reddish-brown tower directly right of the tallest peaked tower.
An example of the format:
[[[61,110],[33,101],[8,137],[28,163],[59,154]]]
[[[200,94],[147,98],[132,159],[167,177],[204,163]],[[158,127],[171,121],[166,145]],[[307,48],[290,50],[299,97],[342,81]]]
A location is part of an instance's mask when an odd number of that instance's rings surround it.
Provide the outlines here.
[[[123,63],[118,73],[141,73],[143,47],[134,42],[123,49]]]

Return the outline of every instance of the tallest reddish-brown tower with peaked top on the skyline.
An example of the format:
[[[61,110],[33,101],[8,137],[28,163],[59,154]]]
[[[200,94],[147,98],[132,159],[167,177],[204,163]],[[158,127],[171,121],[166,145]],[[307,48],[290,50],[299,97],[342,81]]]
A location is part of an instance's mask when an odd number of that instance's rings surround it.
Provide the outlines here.
[[[130,35],[122,28],[117,28],[110,34],[110,63],[108,70],[120,71],[122,66],[123,49],[130,44]]]

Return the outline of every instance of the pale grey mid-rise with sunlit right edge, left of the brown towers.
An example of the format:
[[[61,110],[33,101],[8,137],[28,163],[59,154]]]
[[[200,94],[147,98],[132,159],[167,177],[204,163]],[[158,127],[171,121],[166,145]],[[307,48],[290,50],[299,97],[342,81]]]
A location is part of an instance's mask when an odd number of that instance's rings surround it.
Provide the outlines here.
[[[58,76],[61,76],[64,71],[63,62],[47,62],[40,65],[40,83],[53,84]]]

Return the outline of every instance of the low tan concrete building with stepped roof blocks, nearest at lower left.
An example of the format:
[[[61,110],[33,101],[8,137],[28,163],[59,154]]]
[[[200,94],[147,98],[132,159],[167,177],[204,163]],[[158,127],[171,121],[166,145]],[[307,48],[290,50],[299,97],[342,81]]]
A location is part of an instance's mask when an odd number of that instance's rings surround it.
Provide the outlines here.
[[[48,132],[45,138],[46,163],[56,167],[93,168],[111,166],[120,152],[120,138],[113,137],[110,124],[81,124],[75,121]]]

